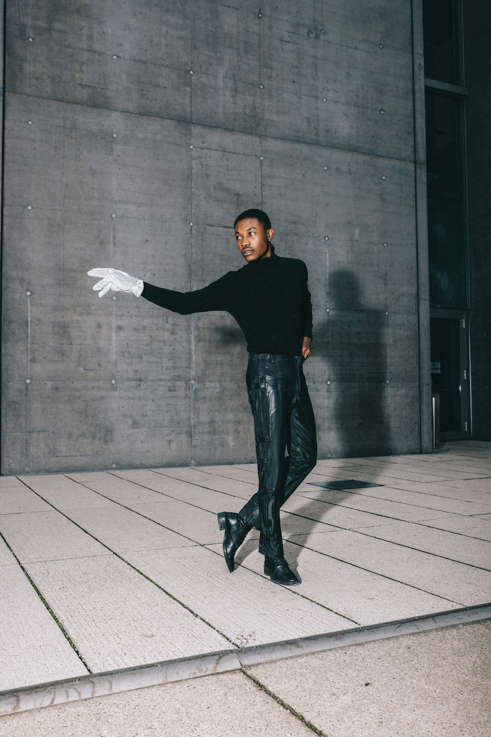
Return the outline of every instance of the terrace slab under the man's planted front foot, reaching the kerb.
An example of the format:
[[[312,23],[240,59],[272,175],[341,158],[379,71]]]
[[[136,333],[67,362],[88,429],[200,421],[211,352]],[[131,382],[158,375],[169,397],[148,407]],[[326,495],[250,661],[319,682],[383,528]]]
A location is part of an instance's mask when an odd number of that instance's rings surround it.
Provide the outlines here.
[[[286,541],[284,547],[289,565],[302,579],[297,591],[356,624],[403,619],[460,606],[291,542]],[[213,546],[213,550],[220,552],[218,546]],[[236,560],[264,575],[264,558],[257,545],[246,542]]]

